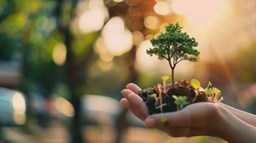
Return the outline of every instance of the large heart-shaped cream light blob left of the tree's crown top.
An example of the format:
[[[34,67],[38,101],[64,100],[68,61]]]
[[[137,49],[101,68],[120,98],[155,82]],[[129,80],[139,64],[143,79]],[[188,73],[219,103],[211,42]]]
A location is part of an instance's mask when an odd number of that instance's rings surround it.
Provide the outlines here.
[[[132,33],[125,29],[121,17],[111,18],[103,27],[101,34],[106,47],[113,55],[122,55],[132,48]]]

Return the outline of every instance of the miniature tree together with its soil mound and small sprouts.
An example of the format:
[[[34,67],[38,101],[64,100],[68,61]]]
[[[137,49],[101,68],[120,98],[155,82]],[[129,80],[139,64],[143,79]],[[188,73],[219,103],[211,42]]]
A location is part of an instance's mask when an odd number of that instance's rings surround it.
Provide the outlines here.
[[[150,56],[157,55],[159,60],[167,60],[171,67],[172,83],[166,83],[168,76],[162,76],[163,85],[157,84],[153,88],[147,88],[139,92],[140,97],[149,108],[149,114],[165,113],[177,111],[184,108],[186,105],[195,102],[219,102],[221,92],[217,88],[203,89],[201,83],[192,79],[191,82],[186,80],[178,80],[174,82],[174,69],[180,61],[188,60],[192,62],[198,61],[197,57],[200,54],[195,49],[198,46],[195,38],[190,38],[186,32],[181,32],[178,23],[169,24],[166,26],[165,33],[160,33],[159,36],[150,40],[153,48],[147,49],[147,54]],[[220,98],[220,100],[219,100]],[[210,101],[211,99],[211,101]],[[162,122],[166,122],[166,117],[161,117]]]

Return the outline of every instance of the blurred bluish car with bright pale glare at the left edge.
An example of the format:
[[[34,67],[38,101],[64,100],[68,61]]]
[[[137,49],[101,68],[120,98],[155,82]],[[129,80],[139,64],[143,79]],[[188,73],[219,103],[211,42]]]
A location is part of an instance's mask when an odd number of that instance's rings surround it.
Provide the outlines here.
[[[23,125],[26,122],[26,96],[0,87],[0,126]]]

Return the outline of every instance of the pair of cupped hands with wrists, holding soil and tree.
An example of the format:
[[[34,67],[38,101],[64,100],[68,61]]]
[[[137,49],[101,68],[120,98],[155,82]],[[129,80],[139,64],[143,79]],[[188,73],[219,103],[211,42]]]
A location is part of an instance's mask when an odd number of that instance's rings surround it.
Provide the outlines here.
[[[241,134],[244,131],[240,132],[242,129],[252,129],[252,132],[255,132],[255,126],[245,123],[245,116],[250,119],[256,117],[254,115],[246,115],[246,113],[221,103],[199,102],[188,105],[179,111],[149,116],[146,104],[138,96],[140,90],[137,85],[129,83],[127,89],[121,92],[125,98],[122,98],[120,103],[144,121],[146,127],[161,129],[173,137],[217,136],[230,142],[243,142],[244,139],[252,137],[249,139],[256,141],[254,136],[249,136],[248,133],[246,138],[245,135],[232,134],[232,132]],[[245,119],[239,119],[235,116],[236,114]],[[163,116],[167,118],[166,122],[161,121]],[[256,120],[256,118],[251,120]]]

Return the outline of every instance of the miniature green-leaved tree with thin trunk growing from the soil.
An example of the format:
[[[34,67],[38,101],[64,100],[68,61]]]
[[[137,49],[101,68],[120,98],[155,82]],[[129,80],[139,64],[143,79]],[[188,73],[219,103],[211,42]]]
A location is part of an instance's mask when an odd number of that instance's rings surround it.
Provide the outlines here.
[[[178,23],[165,27],[165,33],[160,33],[157,38],[150,40],[153,48],[147,49],[150,56],[158,55],[159,60],[168,60],[172,70],[172,85],[174,85],[174,69],[180,61],[196,62],[200,52],[194,47],[198,46],[195,38],[190,38],[186,32],[181,32],[183,27]],[[192,55],[192,56],[191,56]]]

